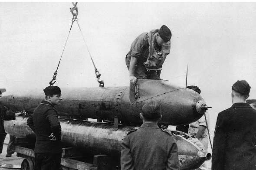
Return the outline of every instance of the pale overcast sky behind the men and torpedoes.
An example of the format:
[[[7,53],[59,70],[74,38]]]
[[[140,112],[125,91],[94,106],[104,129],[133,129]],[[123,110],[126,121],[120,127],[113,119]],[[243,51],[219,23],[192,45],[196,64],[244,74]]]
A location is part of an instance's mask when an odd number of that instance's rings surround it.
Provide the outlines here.
[[[0,88],[44,89],[56,71],[72,24],[71,2],[0,2]],[[59,65],[59,87],[128,86],[125,55],[133,40],[163,24],[172,32],[171,52],[161,78],[197,85],[207,105],[213,134],[217,114],[232,105],[231,86],[246,80],[256,98],[256,3],[89,3],[77,4]],[[86,49],[85,42],[89,52]]]

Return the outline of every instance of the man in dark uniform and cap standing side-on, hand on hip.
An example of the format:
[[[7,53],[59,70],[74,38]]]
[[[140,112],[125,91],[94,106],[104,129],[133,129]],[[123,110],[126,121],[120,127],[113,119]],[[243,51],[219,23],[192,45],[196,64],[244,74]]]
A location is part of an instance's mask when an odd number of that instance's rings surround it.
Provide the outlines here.
[[[59,170],[62,154],[61,126],[54,106],[60,105],[62,101],[61,90],[57,86],[48,86],[43,91],[45,101],[27,120],[28,126],[36,133],[35,168]]]

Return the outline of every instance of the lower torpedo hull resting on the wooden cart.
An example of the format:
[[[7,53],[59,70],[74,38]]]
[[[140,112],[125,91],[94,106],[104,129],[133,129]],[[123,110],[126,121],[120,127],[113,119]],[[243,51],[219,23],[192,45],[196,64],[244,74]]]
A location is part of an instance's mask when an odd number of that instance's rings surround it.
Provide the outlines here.
[[[35,134],[26,124],[27,118],[16,117],[13,121],[4,121],[8,134],[16,137],[26,137],[35,140]],[[129,131],[138,126],[119,125],[117,131],[113,124],[89,122],[72,119],[59,119],[62,127],[62,143],[90,154],[106,154],[120,159],[120,143]],[[171,130],[170,130],[171,131]],[[211,157],[203,150],[203,145],[197,140],[179,131],[171,131],[174,135],[182,169],[197,168]]]

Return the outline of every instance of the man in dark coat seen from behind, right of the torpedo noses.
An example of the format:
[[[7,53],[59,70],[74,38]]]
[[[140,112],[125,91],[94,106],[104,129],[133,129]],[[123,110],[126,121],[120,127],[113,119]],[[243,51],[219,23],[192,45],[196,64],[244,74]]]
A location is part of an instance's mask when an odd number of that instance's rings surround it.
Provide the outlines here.
[[[212,170],[256,170],[256,110],[246,99],[245,80],[232,86],[232,107],[218,114],[213,138]]]

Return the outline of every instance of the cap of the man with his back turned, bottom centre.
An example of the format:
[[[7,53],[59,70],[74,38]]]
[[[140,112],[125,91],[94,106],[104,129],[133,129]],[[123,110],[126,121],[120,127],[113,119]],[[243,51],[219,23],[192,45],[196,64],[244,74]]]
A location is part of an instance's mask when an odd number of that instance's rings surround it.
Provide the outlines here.
[[[148,99],[142,107],[142,115],[148,119],[156,119],[161,117],[161,107],[154,99]]]

